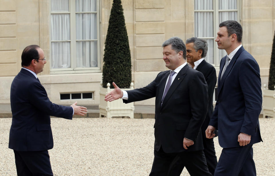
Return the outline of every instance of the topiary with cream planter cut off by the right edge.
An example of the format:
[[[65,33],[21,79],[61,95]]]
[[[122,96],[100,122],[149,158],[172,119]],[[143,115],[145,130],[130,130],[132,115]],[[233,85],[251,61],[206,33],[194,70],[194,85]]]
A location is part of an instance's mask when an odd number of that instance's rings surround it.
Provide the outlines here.
[[[268,77],[268,89],[266,89],[266,84],[264,84],[263,90],[263,116],[264,117],[275,117],[275,34],[272,44],[272,52],[269,67],[269,77]]]

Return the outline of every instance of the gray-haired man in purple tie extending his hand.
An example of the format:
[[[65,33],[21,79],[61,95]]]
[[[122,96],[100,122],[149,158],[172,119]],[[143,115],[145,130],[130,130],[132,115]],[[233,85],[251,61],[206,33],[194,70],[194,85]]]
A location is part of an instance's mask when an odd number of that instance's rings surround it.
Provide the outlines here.
[[[115,89],[105,101],[124,103],[156,97],[154,162],[150,176],[170,175],[179,155],[191,176],[211,175],[203,154],[201,125],[207,113],[207,84],[203,74],[186,64],[186,48],[178,37],[163,44],[163,60],[169,71],[160,72],[146,87],[131,91]],[[201,101],[197,101],[200,99]]]

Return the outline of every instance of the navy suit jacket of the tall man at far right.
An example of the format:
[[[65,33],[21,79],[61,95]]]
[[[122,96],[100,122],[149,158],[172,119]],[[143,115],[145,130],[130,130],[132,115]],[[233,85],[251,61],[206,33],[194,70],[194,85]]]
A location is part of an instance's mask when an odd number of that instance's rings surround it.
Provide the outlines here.
[[[260,142],[262,90],[259,65],[241,46],[220,79],[225,59],[226,56],[220,63],[218,99],[209,125],[218,128],[219,144],[223,148],[238,147],[240,132],[251,135],[250,144]]]

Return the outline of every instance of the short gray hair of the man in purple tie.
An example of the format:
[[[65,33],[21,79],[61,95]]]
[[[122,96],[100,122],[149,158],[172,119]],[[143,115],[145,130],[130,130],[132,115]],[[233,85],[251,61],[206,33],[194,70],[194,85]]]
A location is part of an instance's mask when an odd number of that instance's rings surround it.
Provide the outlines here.
[[[164,47],[167,45],[171,45],[172,50],[176,51],[177,53],[182,51],[183,58],[186,58],[186,47],[184,42],[179,37],[171,37],[165,42],[163,42],[161,46]]]

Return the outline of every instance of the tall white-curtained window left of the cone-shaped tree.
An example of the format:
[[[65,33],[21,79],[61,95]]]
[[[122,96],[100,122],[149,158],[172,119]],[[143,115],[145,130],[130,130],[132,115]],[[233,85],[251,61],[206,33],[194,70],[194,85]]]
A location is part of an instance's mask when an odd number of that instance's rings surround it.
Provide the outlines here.
[[[99,69],[98,3],[98,0],[51,0],[51,72],[83,73]]]

